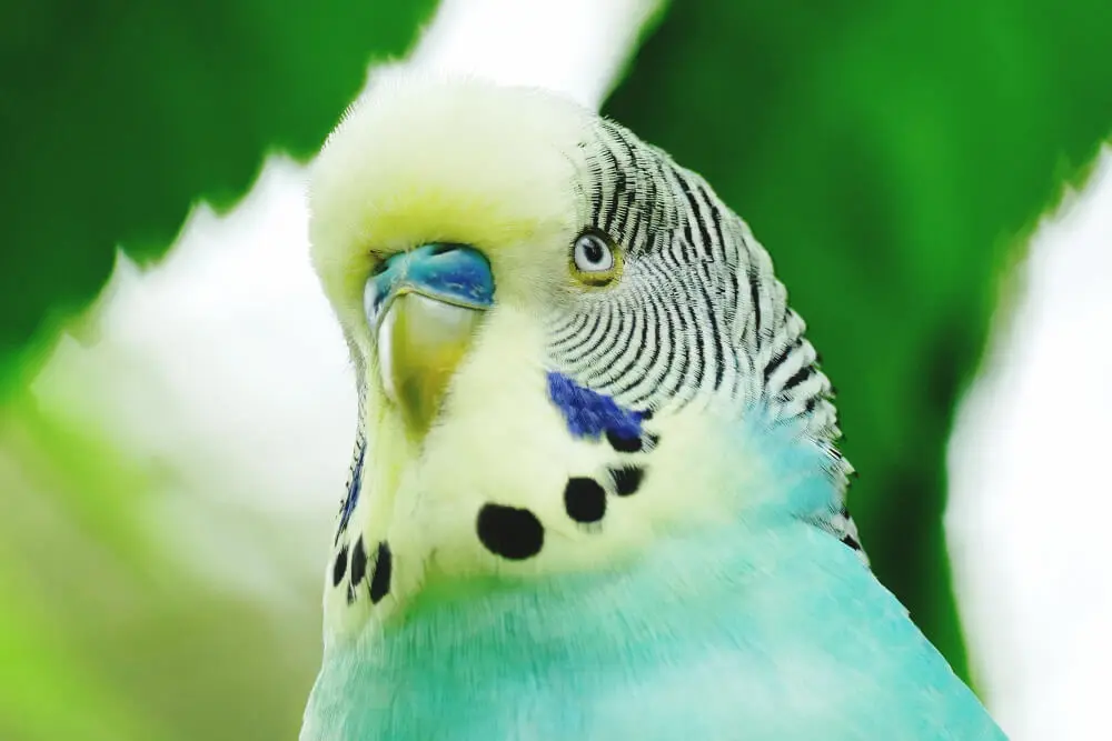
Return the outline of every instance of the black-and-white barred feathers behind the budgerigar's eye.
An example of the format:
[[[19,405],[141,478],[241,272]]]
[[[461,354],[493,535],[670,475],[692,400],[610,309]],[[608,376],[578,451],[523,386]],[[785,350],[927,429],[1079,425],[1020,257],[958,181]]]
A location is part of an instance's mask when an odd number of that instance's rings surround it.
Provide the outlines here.
[[[844,488],[832,389],[772,259],[698,174],[623,127],[583,142],[583,229],[625,252],[619,283],[550,320],[553,360],[631,409],[763,403],[827,451]],[[848,512],[821,527],[860,550]]]

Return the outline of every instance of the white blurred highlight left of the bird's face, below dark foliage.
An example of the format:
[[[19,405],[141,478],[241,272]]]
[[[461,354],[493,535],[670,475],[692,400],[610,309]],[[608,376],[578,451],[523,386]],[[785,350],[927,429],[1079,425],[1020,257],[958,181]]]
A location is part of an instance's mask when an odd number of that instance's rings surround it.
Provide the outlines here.
[[[152,515],[183,558],[229,589],[286,597],[322,570],[356,424],[347,348],[309,264],[305,178],[271,159],[228,216],[196,209],[157,267],[119,256],[96,341],[62,338],[32,387],[165,473]]]

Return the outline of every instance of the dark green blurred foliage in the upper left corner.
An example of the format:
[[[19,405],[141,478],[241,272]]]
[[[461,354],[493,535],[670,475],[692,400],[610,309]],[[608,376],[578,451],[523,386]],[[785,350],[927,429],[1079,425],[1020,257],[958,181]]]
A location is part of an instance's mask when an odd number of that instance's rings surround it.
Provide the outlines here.
[[[117,246],[160,257],[193,202],[234,203],[266,152],[311,156],[434,4],[0,4],[0,391],[97,296]]]

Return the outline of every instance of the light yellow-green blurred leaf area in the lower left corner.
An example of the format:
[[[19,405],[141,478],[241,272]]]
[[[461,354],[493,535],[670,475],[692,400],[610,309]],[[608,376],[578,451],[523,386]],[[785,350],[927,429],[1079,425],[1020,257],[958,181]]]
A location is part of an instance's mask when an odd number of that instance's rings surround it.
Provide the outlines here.
[[[290,604],[195,551],[250,579],[252,528],[275,551],[298,551],[296,530],[232,520],[83,419],[30,393],[0,409],[0,738],[294,738],[319,662],[316,569],[270,564]]]

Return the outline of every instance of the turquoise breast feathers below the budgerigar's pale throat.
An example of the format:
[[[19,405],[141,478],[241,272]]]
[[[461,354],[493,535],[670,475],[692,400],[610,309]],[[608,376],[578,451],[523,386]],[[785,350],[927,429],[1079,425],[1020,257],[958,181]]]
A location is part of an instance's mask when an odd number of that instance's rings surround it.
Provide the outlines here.
[[[614,572],[426,591],[380,639],[330,645],[301,741],[1004,739],[855,553],[805,522],[835,501],[821,453],[766,443],[776,505]]]

